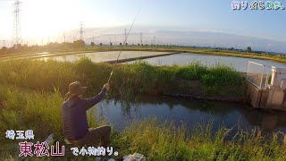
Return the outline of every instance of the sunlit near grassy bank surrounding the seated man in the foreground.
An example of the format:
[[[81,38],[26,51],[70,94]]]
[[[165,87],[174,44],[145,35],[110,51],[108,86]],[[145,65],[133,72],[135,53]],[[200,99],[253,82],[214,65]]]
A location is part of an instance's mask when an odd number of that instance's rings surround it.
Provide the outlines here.
[[[61,105],[63,97],[58,90],[52,92],[32,91],[13,86],[0,86],[0,130],[35,131],[35,140],[43,141],[50,133],[63,141]],[[90,126],[97,126],[94,111],[88,111]],[[286,146],[277,140],[265,141],[256,131],[240,131],[232,140],[225,140],[230,129],[221,128],[212,134],[212,123],[201,123],[191,128],[186,136],[186,127],[174,127],[172,123],[157,123],[156,119],[135,122],[122,132],[113,131],[110,146],[119,152],[120,158],[139,152],[147,160],[285,160]],[[19,140],[0,138],[0,159],[18,160]],[[46,158],[36,158],[46,160]],[[65,157],[52,160],[94,160],[93,157],[74,157],[67,147]]]

